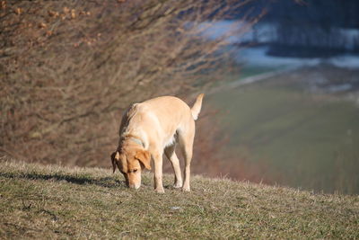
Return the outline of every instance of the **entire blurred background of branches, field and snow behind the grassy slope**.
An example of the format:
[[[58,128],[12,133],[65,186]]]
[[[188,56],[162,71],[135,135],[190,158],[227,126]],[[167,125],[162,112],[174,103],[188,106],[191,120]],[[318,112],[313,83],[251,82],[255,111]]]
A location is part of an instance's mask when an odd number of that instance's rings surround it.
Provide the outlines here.
[[[109,167],[128,104],[206,93],[193,173],[359,192],[358,1],[0,1],[0,11],[3,159]]]

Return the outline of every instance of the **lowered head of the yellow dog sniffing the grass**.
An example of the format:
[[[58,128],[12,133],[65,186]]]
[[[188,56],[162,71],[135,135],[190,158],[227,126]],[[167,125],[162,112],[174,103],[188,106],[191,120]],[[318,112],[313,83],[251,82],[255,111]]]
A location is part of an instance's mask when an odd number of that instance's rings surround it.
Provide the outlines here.
[[[121,149],[111,154],[113,173],[116,166],[125,179],[127,187],[138,189],[141,186],[141,172],[151,170],[150,153],[140,148]]]

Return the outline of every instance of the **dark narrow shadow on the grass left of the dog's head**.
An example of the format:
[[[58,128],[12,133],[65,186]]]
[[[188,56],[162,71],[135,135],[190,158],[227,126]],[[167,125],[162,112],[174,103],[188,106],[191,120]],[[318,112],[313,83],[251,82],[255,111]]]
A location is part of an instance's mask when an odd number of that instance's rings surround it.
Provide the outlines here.
[[[0,177],[12,179],[30,179],[30,180],[49,180],[49,181],[65,181],[74,184],[85,185],[93,184],[106,188],[121,188],[126,186],[125,181],[119,181],[115,177],[102,177],[93,179],[91,176],[73,176],[61,173],[47,174],[47,173],[0,173]]]

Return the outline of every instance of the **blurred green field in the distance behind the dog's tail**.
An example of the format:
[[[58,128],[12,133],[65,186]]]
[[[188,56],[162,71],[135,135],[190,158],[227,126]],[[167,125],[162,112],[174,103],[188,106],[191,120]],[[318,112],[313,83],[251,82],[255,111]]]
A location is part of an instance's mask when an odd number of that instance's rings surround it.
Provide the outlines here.
[[[295,71],[210,95],[231,137],[224,150],[245,152],[265,169],[265,182],[358,193],[359,108],[341,95],[309,93],[306,76]]]

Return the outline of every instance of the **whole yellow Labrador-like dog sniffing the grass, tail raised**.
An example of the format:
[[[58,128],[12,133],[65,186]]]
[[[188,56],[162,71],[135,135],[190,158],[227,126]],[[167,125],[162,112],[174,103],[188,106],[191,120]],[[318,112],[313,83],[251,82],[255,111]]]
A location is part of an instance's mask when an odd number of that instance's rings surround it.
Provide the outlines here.
[[[174,188],[190,191],[189,175],[192,159],[195,120],[201,111],[204,93],[197,96],[193,107],[177,97],[162,96],[132,104],[125,111],[119,127],[118,148],[111,154],[113,173],[116,167],[125,177],[127,187],[141,186],[141,172],[154,166],[154,190],[162,193],[162,156],[171,161]],[[184,182],[175,147],[185,158]]]

